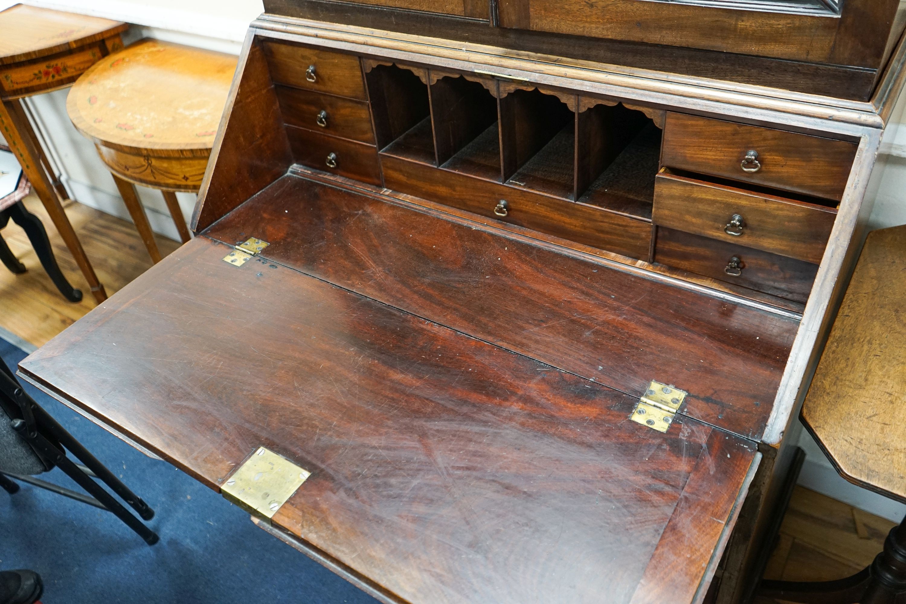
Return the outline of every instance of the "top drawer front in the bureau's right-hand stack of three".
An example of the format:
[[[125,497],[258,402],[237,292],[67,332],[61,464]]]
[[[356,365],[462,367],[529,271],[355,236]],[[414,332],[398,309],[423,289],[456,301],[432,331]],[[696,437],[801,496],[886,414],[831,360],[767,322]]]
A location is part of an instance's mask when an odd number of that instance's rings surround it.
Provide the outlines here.
[[[843,140],[668,112],[660,164],[839,200],[855,150]],[[757,152],[751,161],[749,151]]]

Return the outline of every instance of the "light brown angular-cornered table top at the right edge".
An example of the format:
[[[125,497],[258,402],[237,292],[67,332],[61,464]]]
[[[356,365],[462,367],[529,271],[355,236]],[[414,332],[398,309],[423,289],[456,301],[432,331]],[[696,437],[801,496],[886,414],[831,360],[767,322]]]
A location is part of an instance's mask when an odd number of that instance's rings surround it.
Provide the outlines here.
[[[802,407],[849,480],[906,501],[906,227],[868,235]]]

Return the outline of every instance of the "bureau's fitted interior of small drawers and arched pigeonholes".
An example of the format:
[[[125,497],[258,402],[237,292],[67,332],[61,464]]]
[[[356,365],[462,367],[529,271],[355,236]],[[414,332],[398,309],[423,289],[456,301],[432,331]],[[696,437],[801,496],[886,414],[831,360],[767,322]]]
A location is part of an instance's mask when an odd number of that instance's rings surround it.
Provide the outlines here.
[[[341,177],[337,184],[383,187],[375,192],[795,311],[811,291],[855,149],[266,38],[249,62],[240,89],[260,89],[254,110],[275,120],[271,147],[260,151],[268,176],[249,179],[257,190],[301,165]],[[231,122],[254,122],[233,113]]]

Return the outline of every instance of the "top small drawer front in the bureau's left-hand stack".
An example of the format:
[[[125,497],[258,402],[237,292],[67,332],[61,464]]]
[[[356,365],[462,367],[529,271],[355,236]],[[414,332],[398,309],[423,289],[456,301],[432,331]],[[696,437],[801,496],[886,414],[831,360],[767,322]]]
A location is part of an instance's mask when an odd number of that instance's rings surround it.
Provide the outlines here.
[[[366,101],[361,62],[354,54],[332,53],[294,44],[265,42],[275,83]]]

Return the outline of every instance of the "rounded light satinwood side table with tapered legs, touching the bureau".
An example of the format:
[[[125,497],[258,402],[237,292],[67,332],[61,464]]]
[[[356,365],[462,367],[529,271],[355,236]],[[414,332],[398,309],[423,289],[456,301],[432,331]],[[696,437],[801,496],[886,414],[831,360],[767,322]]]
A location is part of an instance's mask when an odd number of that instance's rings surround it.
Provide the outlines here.
[[[72,123],[94,141],[155,263],[160,253],[134,185],[163,193],[187,242],[175,192],[201,187],[235,71],[234,56],[142,40],[94,65],[69,92]]]

